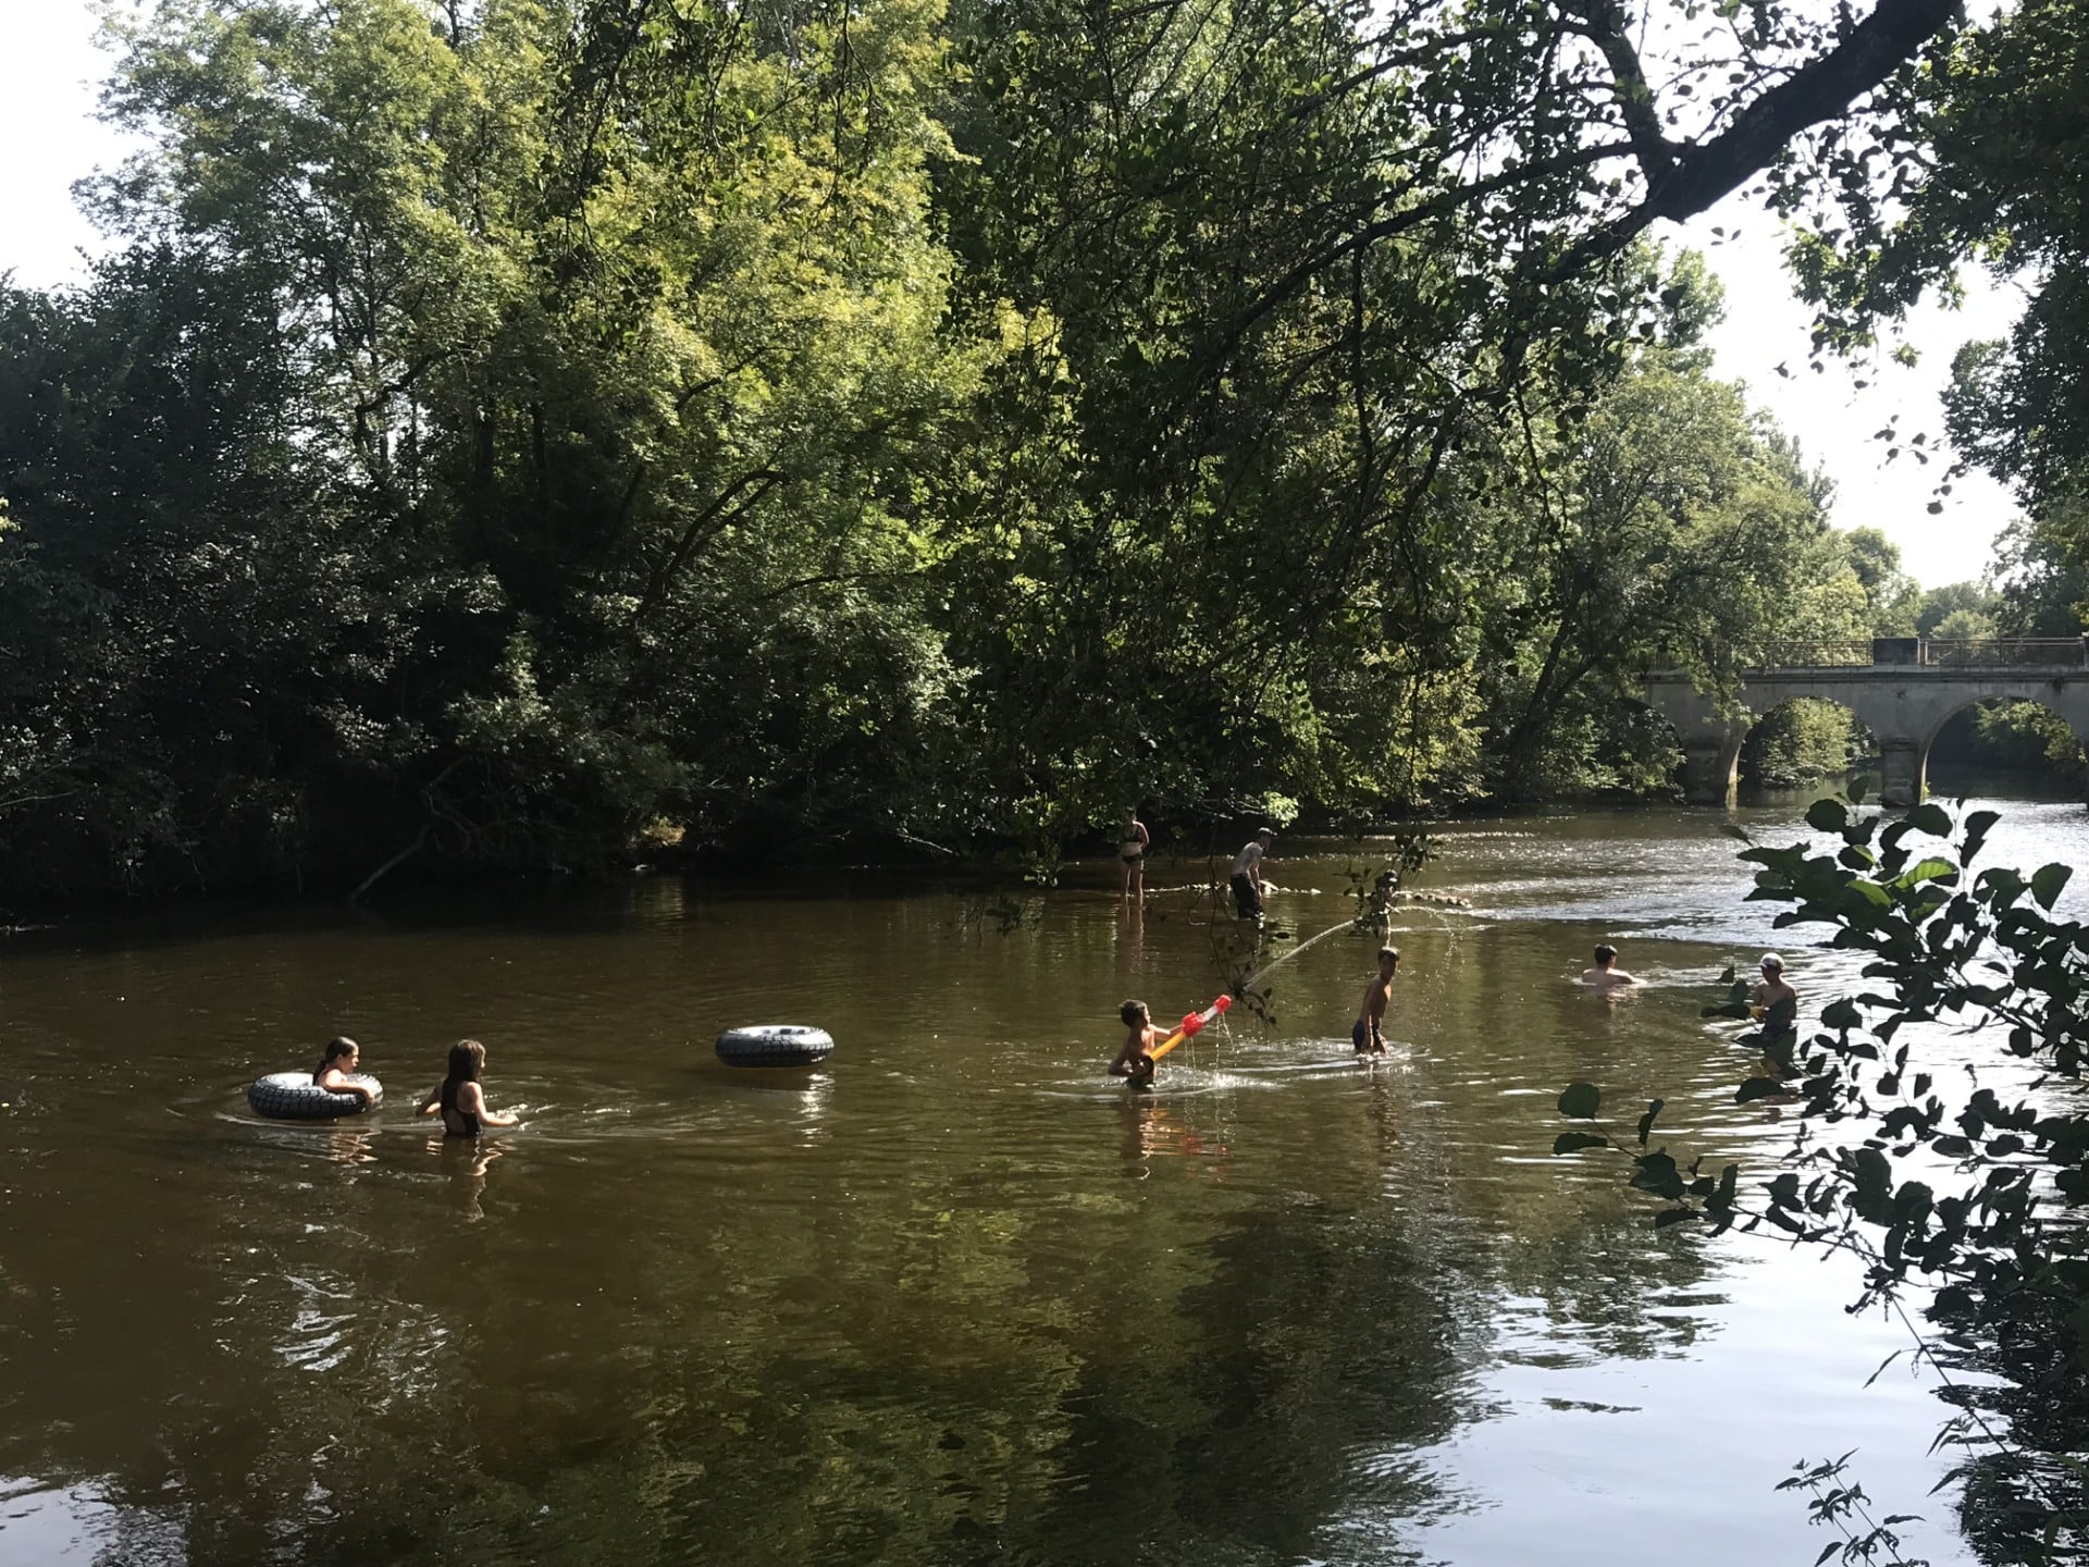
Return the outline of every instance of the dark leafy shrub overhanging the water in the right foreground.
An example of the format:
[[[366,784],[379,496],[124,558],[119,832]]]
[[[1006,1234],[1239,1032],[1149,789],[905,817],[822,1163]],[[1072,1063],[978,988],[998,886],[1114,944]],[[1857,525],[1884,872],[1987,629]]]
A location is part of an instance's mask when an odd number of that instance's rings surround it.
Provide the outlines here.
[[[1920,804],[1886,819],[1820,800],[1807,825],[1826,852],[1751,842],[1740,855],[1757,867],[1751,901],[1784,905],[1776,926],[1822,926],[1828,946],[1865,959],[1863,990],[1822,1007],[1811,1036],[1761,1038],[1767,1072],[1736,1086],[1738,1103],[1778,1099],[1797,1124],[1784,1168],[1755,1197],[1742,1199],[1738,1166],[1711,1174],[1703,1157],[1682,1164],[1654,1145],[1661,1099],[1634,1139],[1571,1130],[1554,1153],[1627,1160],[1627,1183],[1663,1199],[1657,1226],[1778,1231],[1857,1258],[1851,1310],[1897,1316],[1955,1408],[1937,1446],[1964,1454],[1947,1483],[1962,1486],[1959,1519],[1982,1559],[2083,1561],[2089,928],[2053,913],[2066,865],[1974,871],[1995,823],[1993,811],[1955,819]],[[1705,1011],[1746,1015],[1744,992]],[[1937,1030],[1920,1059],[1911,1026]],[[1558,1109],[1594,1122],[1600,1093],[1571,1084]],[[1815,1492],[1820,1521],[1849,1525],[1861,1502],[1840,1460],[1801,1465],[1794,1483]],[[1847,1529],[1822,1561],[1895,1550],[1895,1521]]]

